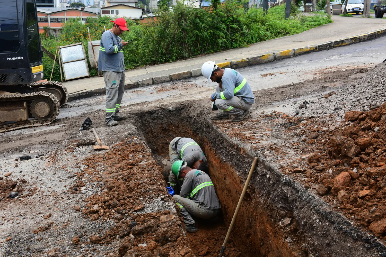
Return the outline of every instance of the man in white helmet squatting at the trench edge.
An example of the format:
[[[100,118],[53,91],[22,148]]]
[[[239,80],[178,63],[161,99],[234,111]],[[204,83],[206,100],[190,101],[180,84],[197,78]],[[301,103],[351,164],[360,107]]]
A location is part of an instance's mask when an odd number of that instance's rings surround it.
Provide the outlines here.
[[[233,122],[242,121],[255,102],[247,80],[234,69],[218,68],[215,62],[205,62],[201,73],[208,81],[218,83],[216,92],[210,97],[212,102],[216,102],[218,113],[210,118],[229,119],[229,114],[233,114],[236,115]]]

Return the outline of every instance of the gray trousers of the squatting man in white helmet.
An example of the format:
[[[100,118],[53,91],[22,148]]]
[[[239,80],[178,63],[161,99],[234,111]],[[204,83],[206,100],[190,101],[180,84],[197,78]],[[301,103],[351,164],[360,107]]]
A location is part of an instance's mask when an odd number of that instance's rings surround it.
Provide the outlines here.
[[[216,88],[217,92],[223,91],[219,86]],[[244,110],[249,110],[252,107],[252,104],[244,102],[240,97],[233,96],[231,99],[216,99],[216,106],[218,108],[219,114],[234,114],[240,115]]]

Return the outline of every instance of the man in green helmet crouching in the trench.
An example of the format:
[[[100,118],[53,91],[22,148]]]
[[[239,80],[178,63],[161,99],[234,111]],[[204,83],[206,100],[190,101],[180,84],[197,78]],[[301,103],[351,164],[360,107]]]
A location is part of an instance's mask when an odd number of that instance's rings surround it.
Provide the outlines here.
[[[181,177],[184,180],[179,195],[173,195],[173,201],[184,218],[186,231],[197,232],[191,215],[208,219],[221,210],[215,187],[207,173],[189,168],[185,161],[175,161],[171,170],[178,179]]]

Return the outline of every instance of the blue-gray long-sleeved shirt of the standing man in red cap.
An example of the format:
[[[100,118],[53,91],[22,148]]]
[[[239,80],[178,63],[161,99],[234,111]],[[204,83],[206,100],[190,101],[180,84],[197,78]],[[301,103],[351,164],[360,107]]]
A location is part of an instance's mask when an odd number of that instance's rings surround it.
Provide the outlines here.
[[[121,41],[110,30],[103,32],[99,46],[98,71],[125,71]]]

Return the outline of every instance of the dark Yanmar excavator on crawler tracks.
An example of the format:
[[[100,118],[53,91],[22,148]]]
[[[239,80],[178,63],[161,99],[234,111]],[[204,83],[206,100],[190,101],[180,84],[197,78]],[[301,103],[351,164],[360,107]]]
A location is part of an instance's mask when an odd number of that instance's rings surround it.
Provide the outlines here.
[[[0,133],[52,123],[68,92],[43,81],[35,0],[0,0]]]

